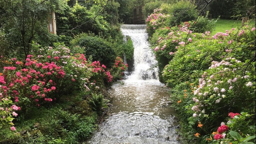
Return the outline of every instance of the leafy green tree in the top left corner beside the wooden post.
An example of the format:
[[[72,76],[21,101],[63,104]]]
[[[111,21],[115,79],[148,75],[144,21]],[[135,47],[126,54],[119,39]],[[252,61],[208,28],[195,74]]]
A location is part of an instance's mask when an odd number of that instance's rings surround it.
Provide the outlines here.
[[[10,49],[30,53],[30,43],[47,32],[49,14],[59,9],[65,1],[62,0],[2,0],[3,28]]]

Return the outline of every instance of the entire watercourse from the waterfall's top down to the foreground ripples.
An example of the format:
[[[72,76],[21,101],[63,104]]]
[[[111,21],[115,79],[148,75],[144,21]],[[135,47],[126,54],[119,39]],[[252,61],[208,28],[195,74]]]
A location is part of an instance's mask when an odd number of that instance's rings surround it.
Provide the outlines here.
[[[133,41],[134,71],[109,89],[112,107],[89,144],[179,144],[177,119],[158,80],[146,25],[124,24],[121,30]]]

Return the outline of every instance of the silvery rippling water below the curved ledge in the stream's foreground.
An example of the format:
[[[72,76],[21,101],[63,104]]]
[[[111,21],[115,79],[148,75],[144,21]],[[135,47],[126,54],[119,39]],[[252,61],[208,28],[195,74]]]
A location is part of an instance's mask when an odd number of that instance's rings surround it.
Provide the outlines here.
[[[179,144],[174,116],[167,120],[154,115],[119,112],[109,116],[90,144]]]

